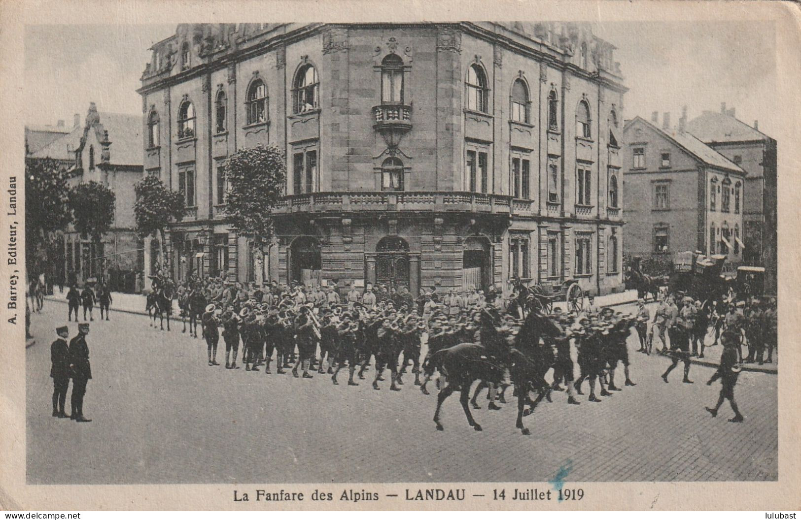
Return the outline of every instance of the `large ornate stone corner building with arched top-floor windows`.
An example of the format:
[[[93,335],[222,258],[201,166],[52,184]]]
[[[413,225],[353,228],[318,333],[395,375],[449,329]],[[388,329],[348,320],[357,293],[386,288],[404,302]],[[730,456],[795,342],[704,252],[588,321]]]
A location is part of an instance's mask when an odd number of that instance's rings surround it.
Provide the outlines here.
[[[622,288],[626,88],[590,26],[179,25],[152,51],[144,169],[189,208],[175,277]],[[226,221],[222,166],[268,143],[288,182],[262,263]]]

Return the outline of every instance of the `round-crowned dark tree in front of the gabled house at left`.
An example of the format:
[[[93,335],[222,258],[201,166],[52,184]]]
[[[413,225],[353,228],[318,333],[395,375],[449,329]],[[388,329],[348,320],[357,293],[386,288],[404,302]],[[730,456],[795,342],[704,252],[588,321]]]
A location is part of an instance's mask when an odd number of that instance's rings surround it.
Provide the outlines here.
[[[116,196],[108,186],[99,182],[82,182],[70,190],[70,209],[75,230],[82,237],[89,237],[95,244],[95,254],[102,256],[103,234],[111,230],[114,223]],[[98,266],[102,262],[97,263]],[[95,274],[100,274],[95,272]]]

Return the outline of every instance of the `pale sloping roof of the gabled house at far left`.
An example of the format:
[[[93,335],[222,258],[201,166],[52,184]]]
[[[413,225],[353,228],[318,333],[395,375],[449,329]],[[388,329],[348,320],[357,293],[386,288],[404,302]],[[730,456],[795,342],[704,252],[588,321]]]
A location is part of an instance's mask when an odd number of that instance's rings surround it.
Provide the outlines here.
[[[114,112],[97,112],[99,123],[91,125],[94,128],[98,141],[103,141],[103,132],[108,130],[111,141],[109,154],[111,164],[136,165],[143,163],[142,157],[142,118],[132,114],[117,114]],[[96,120],[95,120],[96,121]],[[50,142],[41,150],[30,154],[35,158],[54,158],[59,160],[72,160],[75,158],[74,150],[81,146],[81,139],[89,130],[87,126],[78,126],[69,134]],[[69,150],[67,151],[67,146]]]

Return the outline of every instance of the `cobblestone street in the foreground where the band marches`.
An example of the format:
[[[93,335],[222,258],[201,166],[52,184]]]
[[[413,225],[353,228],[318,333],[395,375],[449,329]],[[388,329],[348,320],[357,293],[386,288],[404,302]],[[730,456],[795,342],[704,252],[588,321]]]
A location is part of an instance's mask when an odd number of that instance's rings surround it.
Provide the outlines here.
[[[714,369],[680,367],[635,352],[635,387],[603,402],[568,406],[554,392],[514,427],[516,406],[482,410],[468,426],[458,398],[443,406],[445,431],[432,421],[436,393],[426,396],[405,378],[401,392],[332,386],[264,371],[209,367],[201,339],[155,330],[147,318],[95,317],[87,341],[92,373],[85,424],[50,417],[50,342],[66,304],[46,302],[31,318],[36,338],[26,350],[27,481],[31,484],[248,482],[541,482],[560,468],[567,481],[775,480],[778,410],[775,374],[743,371],[735,395],[746,417],[717,418]],[[70,322],[70,338],[77,326]],[[220,341],[224,357],[223,342]],[[372,369],[374,370],[374,368]],[[372,370],[368,372],[372,378]],[[622,370],[620,370],[622,372]],[[622,382],[622,374],[617,376]],[[344,378],[342,378],[344,380]],[[586,390],[586,385],[585,385]],[[71,392],[71,385],[70,385]],[[509,390],[508,394],[511,394]],[[67,399],[69,408],[69,396]],[[83,461],[78,464],[75,461]]]

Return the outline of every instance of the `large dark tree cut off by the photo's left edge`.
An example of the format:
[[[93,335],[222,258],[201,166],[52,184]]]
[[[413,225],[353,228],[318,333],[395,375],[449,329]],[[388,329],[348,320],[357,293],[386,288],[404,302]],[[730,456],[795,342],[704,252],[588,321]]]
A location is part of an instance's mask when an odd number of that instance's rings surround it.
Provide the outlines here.
[[[31,277],[49,265],[48,242],[70,224],[68,178],[66,168],[54,159],[25,159],[26,270]]]

